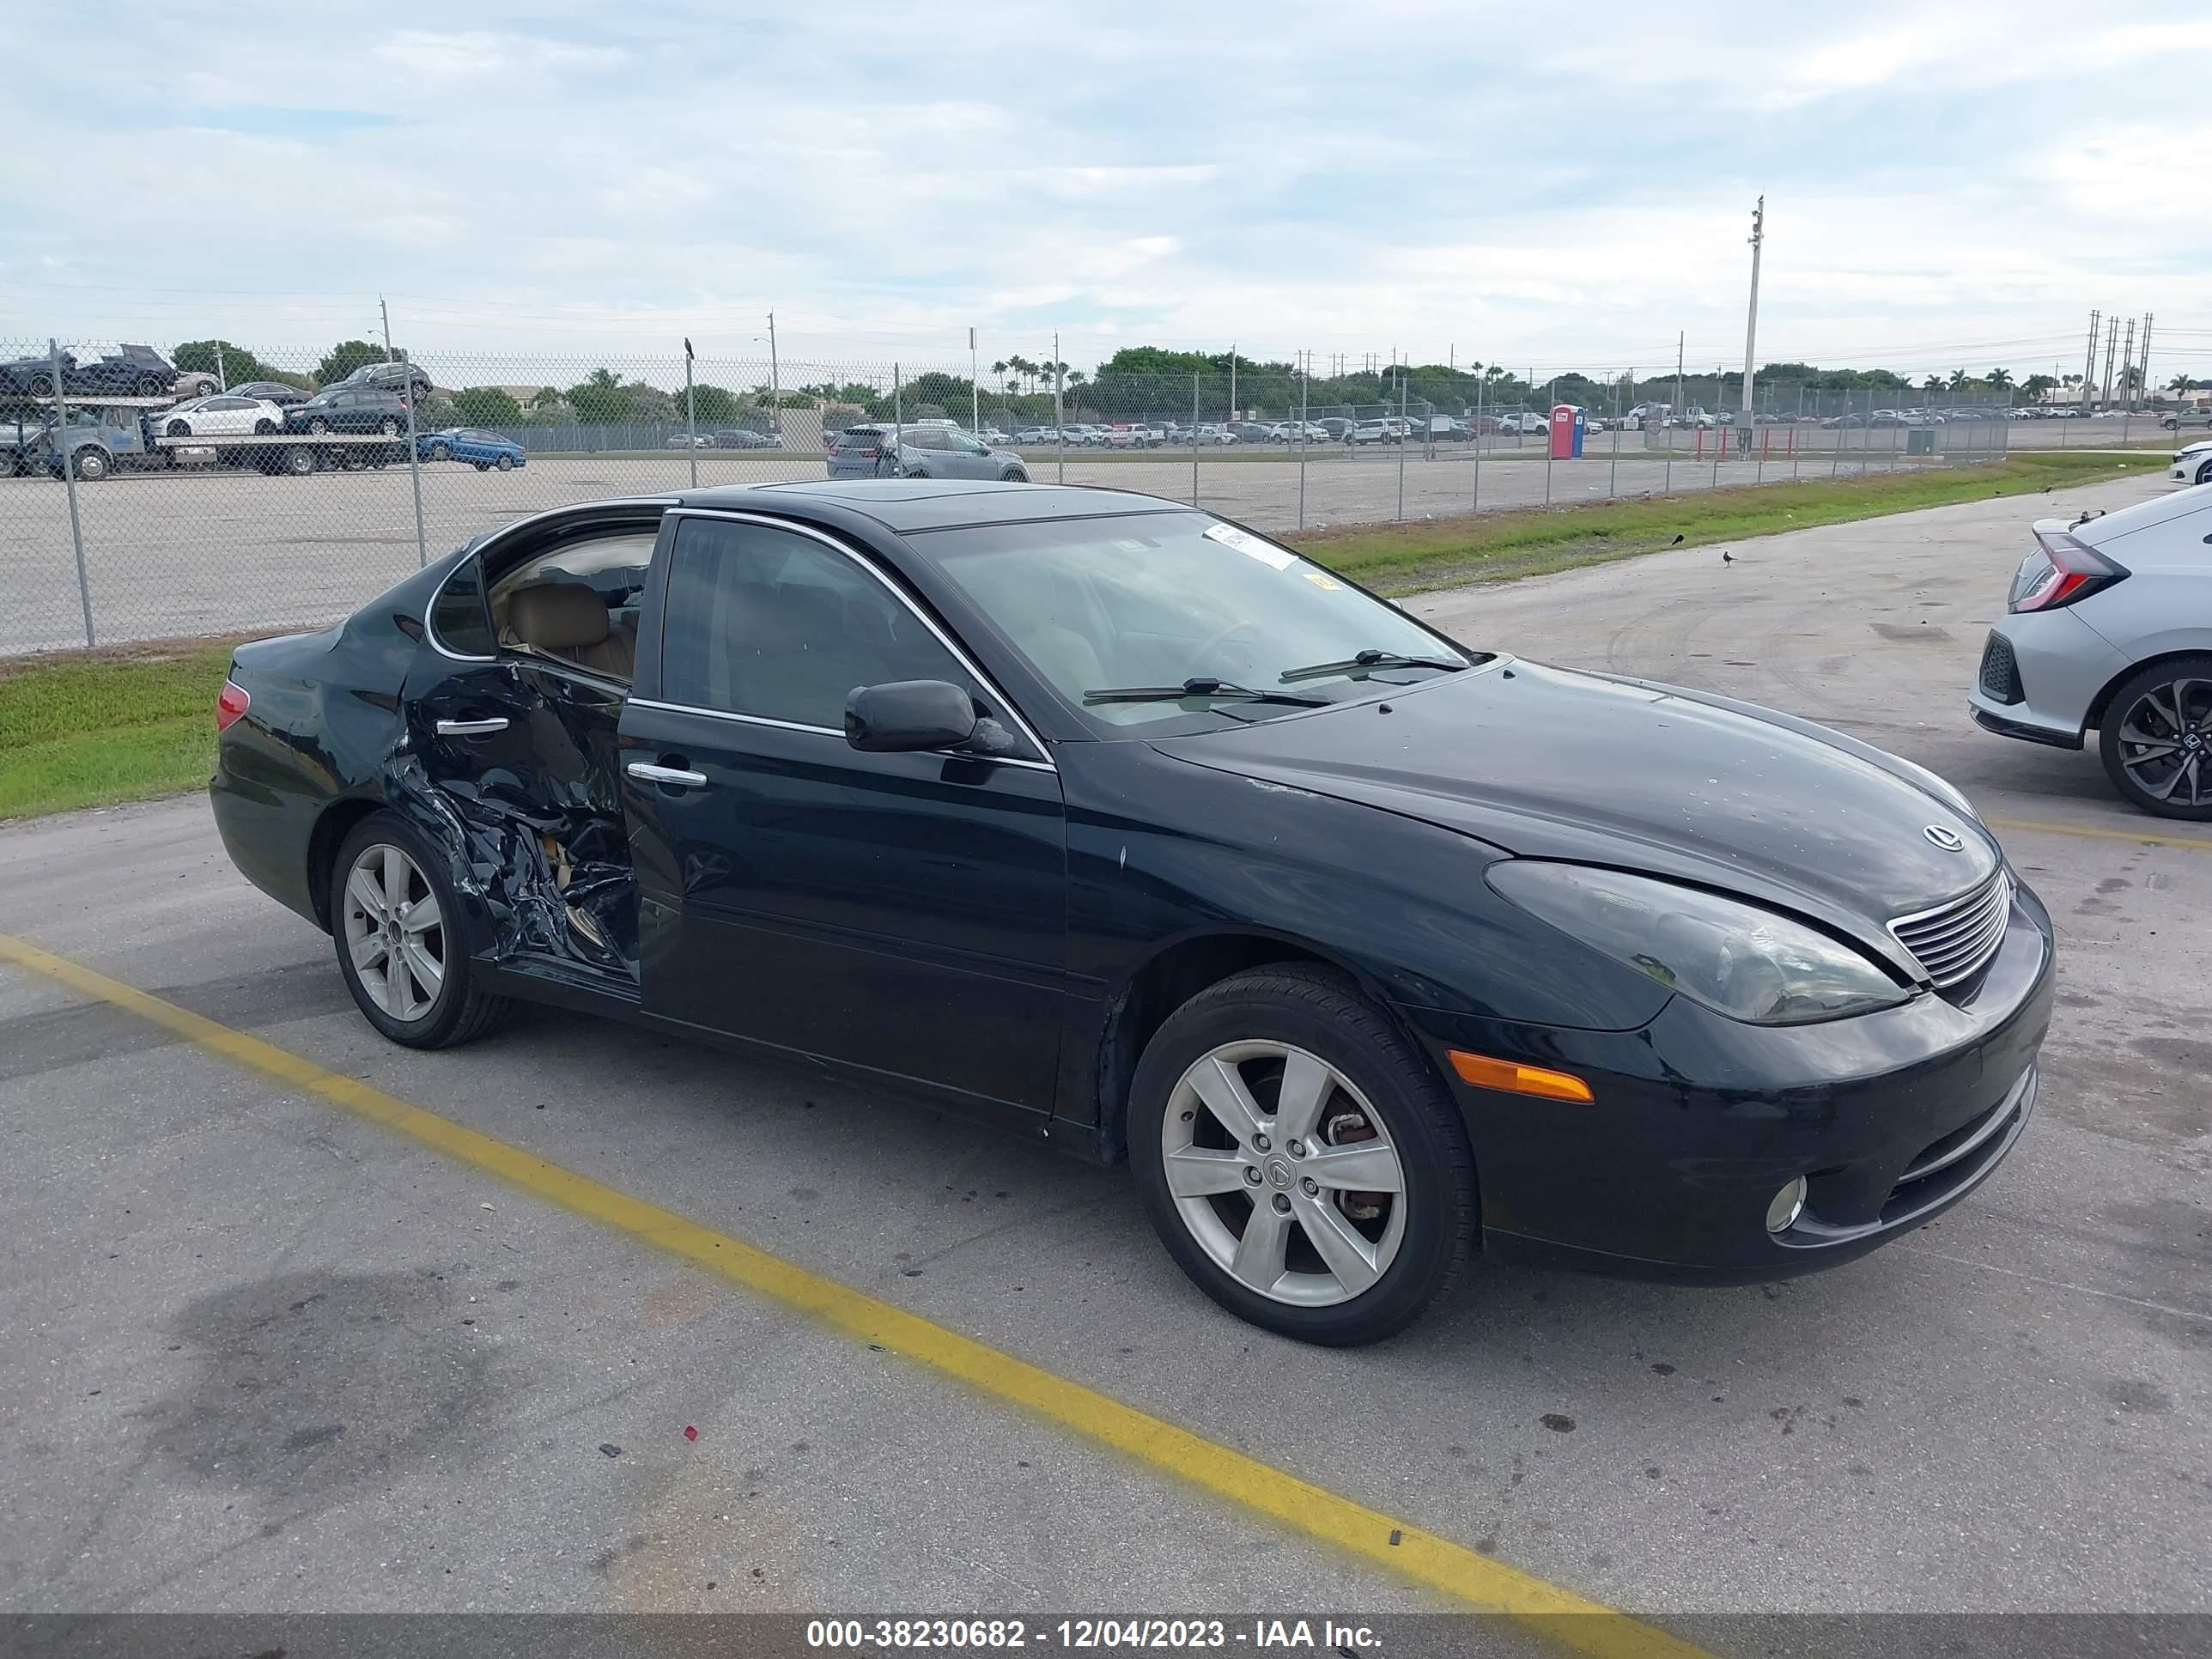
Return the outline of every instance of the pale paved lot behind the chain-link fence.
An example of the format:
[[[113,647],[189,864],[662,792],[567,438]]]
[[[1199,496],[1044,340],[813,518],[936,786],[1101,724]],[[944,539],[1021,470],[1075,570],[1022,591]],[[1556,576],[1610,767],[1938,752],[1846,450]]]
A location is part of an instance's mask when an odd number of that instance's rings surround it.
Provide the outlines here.
[[[1648,453],[1639,434],[1593,434],[1582,460],[1546,465],[1542,445],[1484,451],[1480,478],[1464,447],[1413,451],[1402,467],[1405,518],[1464,513],[1473,507],[1604,500],[1608,493],[1694,491],[1721,484],[1823,478],[1867,465],[1898,465],[1889,434],[1871,451],[1818,451],[1699,462],[1688,442],[1672,460]],[[1834,434],[1825,434],[1834,438]],[[1865,434],[1849,434],[1863,438]],[[1708,434],[1710,438],[1710,434]],[[1613,445],[1619,440],[1619,458]],[[1710,449],[1710,445],[1708,445]],[[701,451],[699,484],[770,484],[821,478],[818,456]],[[1031,476],[1108,484],[1190,500],[1190,456],[1084,458],[1064,469],[1048,453],[1029,456]],[[1199,502],[1263,529],[1301,522],[1298,465],[1287,458],[1199,462]],[[195,633],[321,626],[347,615],[416,568],[418,557],[460,546],[480,531],[564,502],[650,495],[690,484],[690,456],[540,456],[511,473],[478,473],[462,462],[427,462],[422,546],[416,546],[414,487],[405,467],[265,478],[254,471],[119,473],[77,491],[86,591],[104,644]],[[1376,524],[1400,511],[1396,453],[1329,451],[1305,467],[1307,526]],[[0,655],[84,644],[69,500],[51,478],[0,478]]]

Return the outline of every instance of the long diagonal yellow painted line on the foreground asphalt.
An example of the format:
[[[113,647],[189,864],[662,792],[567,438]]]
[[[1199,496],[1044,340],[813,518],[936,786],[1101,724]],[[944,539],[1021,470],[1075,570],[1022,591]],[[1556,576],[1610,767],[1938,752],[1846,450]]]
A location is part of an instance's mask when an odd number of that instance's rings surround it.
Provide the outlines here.
[[[396,1095],[372,1088],[354,1077],[341,1077],[312,1060],[232,1031],[175,1002],[111,980],[106,973],[42,951],[35,945],[0,933],[0,960],[82,991],[84,995],[128,1009],[179,1037],[221,1055],[248,1071],[259,1071],[307,1095],[345,1106],[376,1124],[431,1146],[447,1157],[473,1164],[509,1186],[557,1203],[575,1214],[602,1221],[644,1243],[681,1256],[712,1274],[825,1325],[880,1343],[894,1354],[953,1376],[998,1400],[1026,1407],[1064,1429],[1128,1453],[1161,1473],[1201,1486],[1217,1498],[1265,1515],[1294,1533],[1376,1562],[1400,1577],[1440,1590],[1484,1613],[1506,1613],[1528,1621],[1542,1635],[1599,1659],[1703,1659],[1703,1650],[1588,1601],[1533,1573],[1462,1548],[1447,1537],[1356,1504],[1349,1498],[1314,1486],[1296,1475],[1214,1444],[1172,1422],[1110,1400],[1082,1383],[1071,1383],[1037,1365],[1013,1358],[995,1347],[960,1336],[920,1314],[909,1314],[887,1301],[807,1272],[796,1263],[754,1250],[728,1234],[686,1221],[657,1203],[633,1199],[575,1170],[549,1164],[535,1152],[482,1135],[438,1113],[409,1106]]]

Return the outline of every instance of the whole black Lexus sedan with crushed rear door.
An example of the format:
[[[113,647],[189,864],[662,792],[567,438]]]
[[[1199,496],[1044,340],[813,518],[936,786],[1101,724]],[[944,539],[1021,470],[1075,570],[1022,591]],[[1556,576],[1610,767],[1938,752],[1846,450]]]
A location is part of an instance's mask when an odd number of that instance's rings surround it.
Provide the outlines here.
[[[230,856],[394,1042],[553,1002],[1126,1155],[1305,1340],[1478,1250],[1849,1261],[2035,1106],[2051,920],[1953,787],[1148,495],[564,507],[241,646],[217,723]]]

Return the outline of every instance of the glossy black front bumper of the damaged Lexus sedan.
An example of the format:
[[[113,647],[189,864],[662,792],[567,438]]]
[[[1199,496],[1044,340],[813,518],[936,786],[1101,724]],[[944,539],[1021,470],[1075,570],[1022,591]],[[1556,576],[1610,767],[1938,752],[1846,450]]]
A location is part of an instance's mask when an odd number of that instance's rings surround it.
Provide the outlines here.
[[[1942,1214],[2020,1141],[2051,1024],[2051,916],[2020,887],[1966,993],[1750,1026],[1677,995],[1639,1031],[1513,1026],[1402,1009],[1436,1053],[1584,1077],[1595,1102],[1453,1084],[1484,1250],[1632,1279],[1745,1283],[1851,1261]],[[1803,1214],[1767,1232],[1805,1177]]]

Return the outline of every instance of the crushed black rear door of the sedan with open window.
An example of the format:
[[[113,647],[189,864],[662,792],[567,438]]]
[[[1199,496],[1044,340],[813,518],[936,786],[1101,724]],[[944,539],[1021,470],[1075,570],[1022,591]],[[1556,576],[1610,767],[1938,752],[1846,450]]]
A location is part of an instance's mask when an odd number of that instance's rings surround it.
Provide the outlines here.
[[[407,695],[416,805],[465,849],[478,949],[626,998],[637,885],[617,728],[655,531],[584,524],[520,557],[465,562],[434,611],[438,655]]]

